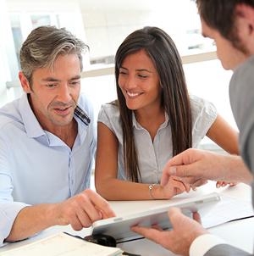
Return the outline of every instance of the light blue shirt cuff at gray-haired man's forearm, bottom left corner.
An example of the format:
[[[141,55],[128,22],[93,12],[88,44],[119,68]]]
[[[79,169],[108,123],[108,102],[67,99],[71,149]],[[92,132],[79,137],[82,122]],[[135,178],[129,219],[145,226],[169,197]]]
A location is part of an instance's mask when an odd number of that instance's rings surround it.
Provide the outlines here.
[[[28,204],[19,202],[0,203],[0,248],[4,239],[8,237],[19,211],[26,206]]]

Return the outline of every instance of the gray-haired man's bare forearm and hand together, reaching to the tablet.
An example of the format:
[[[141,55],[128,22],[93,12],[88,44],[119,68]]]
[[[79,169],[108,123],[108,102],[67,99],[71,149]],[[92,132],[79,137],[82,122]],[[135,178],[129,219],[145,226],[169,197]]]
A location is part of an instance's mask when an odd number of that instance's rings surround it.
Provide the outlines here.
[[[108,202],[87,189],[62,203],[41,203],[21,209],[6,241],[25,239],[52,225],[70,224],[80,231],[95,220],[114,216]]]

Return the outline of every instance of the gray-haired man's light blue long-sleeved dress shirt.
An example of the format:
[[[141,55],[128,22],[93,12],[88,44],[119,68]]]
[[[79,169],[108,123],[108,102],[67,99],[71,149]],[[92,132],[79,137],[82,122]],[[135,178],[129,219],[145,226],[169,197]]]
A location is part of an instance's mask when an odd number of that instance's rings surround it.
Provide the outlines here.
[[[73,148],[44,131],[24,94],[0,109],[0,246],[20,209],[58,203],[90,186],[96,147],[93,110],[83,95],[79,107],[89,125],[75,116]]]

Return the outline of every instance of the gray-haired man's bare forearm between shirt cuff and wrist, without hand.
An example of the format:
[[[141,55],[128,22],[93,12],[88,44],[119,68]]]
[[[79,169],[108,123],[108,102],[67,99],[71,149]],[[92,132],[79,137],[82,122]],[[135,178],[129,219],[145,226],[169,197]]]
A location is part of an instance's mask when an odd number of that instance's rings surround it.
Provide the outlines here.
[[[55,204],[38,204],[21,209],[6,241],[18,241],[35,235],[47,227],[58,225]]]

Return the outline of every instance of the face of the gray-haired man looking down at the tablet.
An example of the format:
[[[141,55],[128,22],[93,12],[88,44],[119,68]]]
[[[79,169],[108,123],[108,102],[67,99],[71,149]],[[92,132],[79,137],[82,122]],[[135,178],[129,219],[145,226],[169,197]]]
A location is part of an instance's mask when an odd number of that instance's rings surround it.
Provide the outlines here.
[[[31,107],[42,127],[69,125],[80,97],[80,59],[75,54],[60,55],[53,69],[33,72],[30,93]]]

